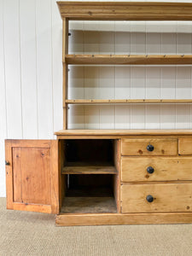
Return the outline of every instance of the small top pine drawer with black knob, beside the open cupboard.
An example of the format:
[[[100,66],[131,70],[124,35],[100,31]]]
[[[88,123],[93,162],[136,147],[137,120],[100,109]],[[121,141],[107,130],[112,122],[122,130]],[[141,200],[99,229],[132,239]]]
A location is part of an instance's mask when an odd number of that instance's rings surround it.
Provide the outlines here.
[[[177,138],[122,139],[122,155],[177,155]]]

